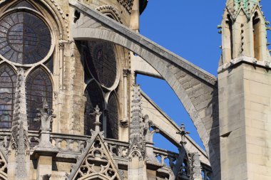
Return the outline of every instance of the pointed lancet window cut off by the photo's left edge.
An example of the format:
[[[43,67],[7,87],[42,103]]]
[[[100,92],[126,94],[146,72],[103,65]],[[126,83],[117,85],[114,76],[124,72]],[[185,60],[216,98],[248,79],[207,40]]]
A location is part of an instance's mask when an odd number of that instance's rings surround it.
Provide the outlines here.
[[[9,65],[0,65],[0,128],[10,128],[14,109],[16,74]]]

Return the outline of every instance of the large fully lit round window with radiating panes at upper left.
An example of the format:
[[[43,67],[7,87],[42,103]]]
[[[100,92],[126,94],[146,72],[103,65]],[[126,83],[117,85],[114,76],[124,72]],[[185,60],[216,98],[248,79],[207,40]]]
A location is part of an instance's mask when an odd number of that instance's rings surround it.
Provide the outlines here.
[[[31,64],[44,59],[51,48],[51,33],[41,18],[15,12],[0,21],[0,54],[14,63]]]

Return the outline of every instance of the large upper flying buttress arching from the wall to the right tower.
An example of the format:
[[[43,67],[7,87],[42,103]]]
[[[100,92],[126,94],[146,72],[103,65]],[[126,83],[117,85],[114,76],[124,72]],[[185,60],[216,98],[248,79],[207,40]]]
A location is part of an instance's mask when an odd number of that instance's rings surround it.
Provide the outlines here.
[[[123,46],[138,54],[167,81],[198,129],[214,174],[218,175],[220,139],[217,79],[111,18],[77,1],[71,1],[70,4],[81,12],[81,18],[72,27],[75,40],[99,39]]]

